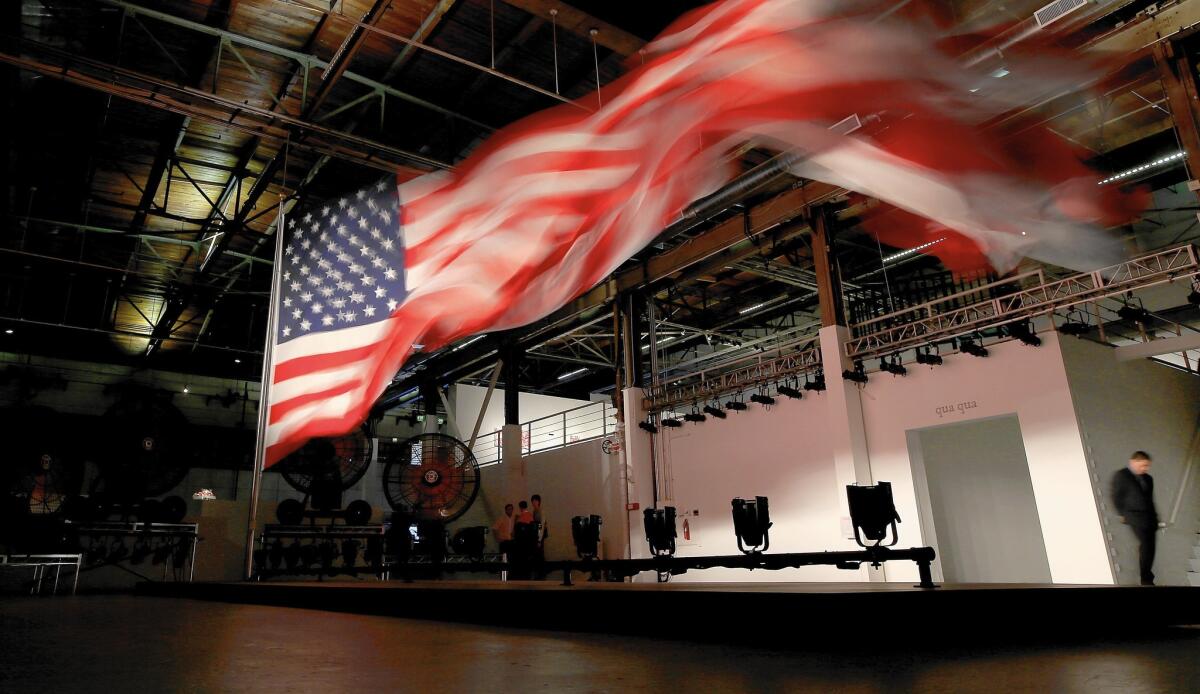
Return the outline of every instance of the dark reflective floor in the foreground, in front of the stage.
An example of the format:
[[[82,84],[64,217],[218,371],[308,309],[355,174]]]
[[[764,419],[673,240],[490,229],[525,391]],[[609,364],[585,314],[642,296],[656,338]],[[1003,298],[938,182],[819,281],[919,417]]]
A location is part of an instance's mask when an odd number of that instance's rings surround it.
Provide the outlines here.
[[[0,598],[0,692],[32,690],[1198,692],[1200,629],[762,651],[174,598]]]

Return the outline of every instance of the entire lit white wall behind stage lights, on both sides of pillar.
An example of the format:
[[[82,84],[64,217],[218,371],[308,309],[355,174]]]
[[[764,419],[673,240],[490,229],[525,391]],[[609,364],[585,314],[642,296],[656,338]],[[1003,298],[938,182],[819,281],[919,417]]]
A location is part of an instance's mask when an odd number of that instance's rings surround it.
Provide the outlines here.
[[[1110,584],[1112,574],[1070,388],[1055,334],[1040,347],[1006,342],[991,355],[948,355],[938,367],[908,365],[906,377],[872,373],[863,387],[863,426],[871,478],[890,481],[901,517],[899,546],[925,544],[908,459],[907,432],[953,421],[1016,414],[1025,439],[1051,576],[1061,584]],[[829,378],[838,376],[829,375]],[[830,382],[830,385],[835,383]],[[698,509],[696,540],[680,556],[736,552],[730,499],[770,498],[772,551],[851,549],[829,449],[828,394],[780,401],[770,411],[751,405],[726,420],[685,424],[659,435],[671,467],[674,505]],[[665,438],[664,438],[665,437]],[[631,533],[634,546],[640,527]],[[916,566],[887,564],[889,581],[913,581]],[[692,572],[677,580],[863,580],[832,567],[794,572]]]

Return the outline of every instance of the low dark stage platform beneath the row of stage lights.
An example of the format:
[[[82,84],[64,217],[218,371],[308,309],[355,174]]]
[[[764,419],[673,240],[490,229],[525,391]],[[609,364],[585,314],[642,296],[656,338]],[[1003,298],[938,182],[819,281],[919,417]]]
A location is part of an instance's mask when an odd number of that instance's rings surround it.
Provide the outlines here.
[[[906,639],[1127,633],[1200,624],[1200,588],[1016,584],[605,584],[556,581],[266,581],[140,584],[143,594],[508,627],[742,641],[854,636],[887,624]],[[746,624],[756,628],[748,629]],[[1200,690],[1200,687],[1198,687]]]

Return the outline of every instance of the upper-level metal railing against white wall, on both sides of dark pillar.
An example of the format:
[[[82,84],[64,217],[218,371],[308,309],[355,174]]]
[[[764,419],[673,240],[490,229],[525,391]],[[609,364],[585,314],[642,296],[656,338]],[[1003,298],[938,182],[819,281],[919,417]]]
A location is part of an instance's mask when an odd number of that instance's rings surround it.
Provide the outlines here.
[[[617,431],[617,408],[606,401],[589,402],[521,424],[521,454],[541,453]],[[472,451],[480,466],[496,465],[504,457],[500,431],[480,433]]]

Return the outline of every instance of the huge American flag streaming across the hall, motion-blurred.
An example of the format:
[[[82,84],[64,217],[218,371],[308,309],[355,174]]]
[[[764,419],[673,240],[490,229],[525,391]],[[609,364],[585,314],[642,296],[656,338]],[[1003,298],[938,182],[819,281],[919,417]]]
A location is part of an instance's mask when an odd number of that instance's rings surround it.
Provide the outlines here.
[[[1118,205],[1075,152],[984,127],[1088,66],[1032,48],[967,68],[894,5],[709,5],[648,44],[598,110],[535,114],[451,173],[288,215],[266,465],[360,423],[414,343],[522,325],[601,281],[728,180],[746,142],[887,203],[875,233],[942,239],[928,252],[952,264],[1110,259],[1098,226]],[[830,130],[851,114],[863,127]]]

